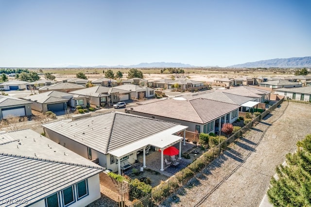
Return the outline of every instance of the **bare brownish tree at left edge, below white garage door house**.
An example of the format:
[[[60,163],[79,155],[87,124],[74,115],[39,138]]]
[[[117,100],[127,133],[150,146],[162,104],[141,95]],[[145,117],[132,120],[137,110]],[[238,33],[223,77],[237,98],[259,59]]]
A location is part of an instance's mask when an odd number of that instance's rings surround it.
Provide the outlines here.
[[[0,121],[0,128],[1,129],[6,129],[7,131],[15,131],[19,129],[26,128],[28,118],[23,116],[23,117],[14,117],[14,116],[9,116],[5,120]]]

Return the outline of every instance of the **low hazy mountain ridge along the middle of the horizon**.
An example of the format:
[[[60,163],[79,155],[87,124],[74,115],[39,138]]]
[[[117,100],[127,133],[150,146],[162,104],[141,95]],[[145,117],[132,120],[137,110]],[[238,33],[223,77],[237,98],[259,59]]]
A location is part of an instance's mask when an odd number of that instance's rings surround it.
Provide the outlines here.
[[[107,66],[107,65],[96,65],[96,66],[79,66],[79,65],[68,65],[68,68],[86,68],[86,67],[111,67],[111,68],[155,68],[155,67],[202,67],[202,66],[194,66],[190,64],[182,64],[182,63],[165,63],[165,62],[160,62],[160,63],[140,63],[140,64],[132,64],[132,65],[115,65],[115,66]],[[216,66],[203,66],[203,67],[218,67]]]

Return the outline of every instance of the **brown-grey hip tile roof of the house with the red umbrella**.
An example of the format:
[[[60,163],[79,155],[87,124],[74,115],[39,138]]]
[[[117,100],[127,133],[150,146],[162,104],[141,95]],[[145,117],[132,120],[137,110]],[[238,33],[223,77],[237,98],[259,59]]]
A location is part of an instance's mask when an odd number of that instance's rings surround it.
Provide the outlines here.
[[[42,125],[103,154],[175,126],[179,124],[117,111]]]

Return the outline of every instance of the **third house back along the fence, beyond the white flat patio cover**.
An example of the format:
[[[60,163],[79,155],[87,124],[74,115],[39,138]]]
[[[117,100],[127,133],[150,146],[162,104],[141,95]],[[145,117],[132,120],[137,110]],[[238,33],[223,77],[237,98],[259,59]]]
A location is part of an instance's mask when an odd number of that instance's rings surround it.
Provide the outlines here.
[[[226,89],[224,92],[238,96],[254,98],[254,101],[261,103],[263,103],[265,100],[270,100],[271,94],[271,91],[245,85]]]

